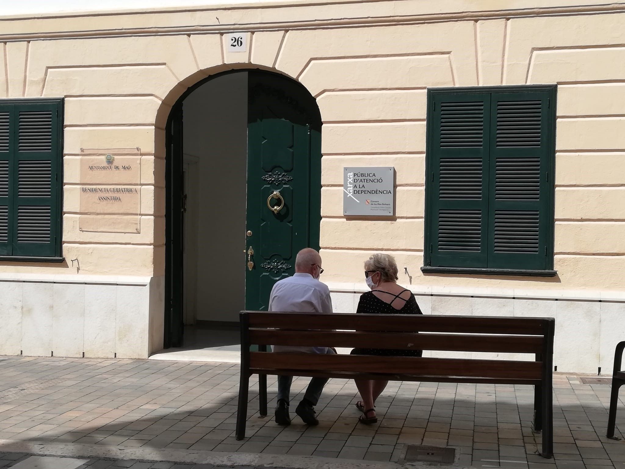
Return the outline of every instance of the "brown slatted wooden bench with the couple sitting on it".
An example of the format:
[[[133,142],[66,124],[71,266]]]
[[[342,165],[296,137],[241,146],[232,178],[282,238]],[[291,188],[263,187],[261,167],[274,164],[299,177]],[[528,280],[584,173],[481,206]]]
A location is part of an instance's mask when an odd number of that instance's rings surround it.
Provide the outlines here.
[[[534,385],[534,430],[542,430],[541,455],[551,458],[554,324],[553,318],[242,311],[236,438],[245,438],[253,374],[259,375],[263,416],[267,415],[266,375],[521,384]],[[259,351],[250,351],[252,344]],[[529,353],[535,361],[272,353],[266,351],[268,345]]]

